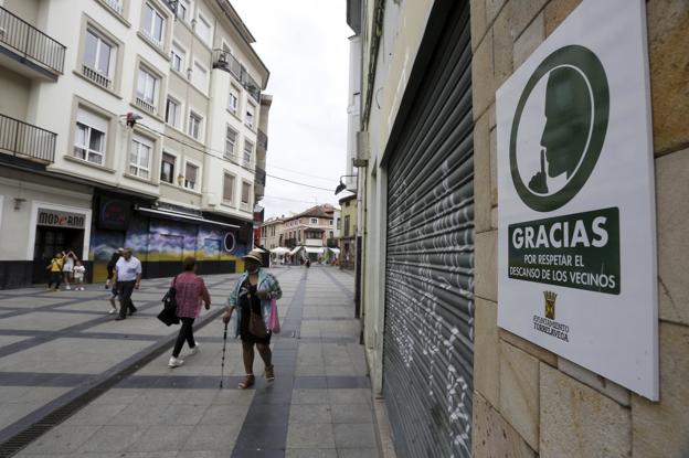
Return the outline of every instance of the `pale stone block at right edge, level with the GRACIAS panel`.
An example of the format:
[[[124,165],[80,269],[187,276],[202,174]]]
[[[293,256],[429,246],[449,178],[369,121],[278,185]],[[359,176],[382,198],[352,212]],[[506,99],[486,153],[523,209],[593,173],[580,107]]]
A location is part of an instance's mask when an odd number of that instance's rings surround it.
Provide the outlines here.
[[[689,149],[656,159],[658,227],[658,313],[689,324]]]

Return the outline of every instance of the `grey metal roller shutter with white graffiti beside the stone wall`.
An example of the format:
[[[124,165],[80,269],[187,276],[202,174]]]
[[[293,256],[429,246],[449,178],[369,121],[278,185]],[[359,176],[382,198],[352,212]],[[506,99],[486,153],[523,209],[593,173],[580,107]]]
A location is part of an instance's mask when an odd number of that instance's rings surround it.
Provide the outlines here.
[[[469,2],[456,2],[388,166],[383,390],[398,454],[471,455]]]

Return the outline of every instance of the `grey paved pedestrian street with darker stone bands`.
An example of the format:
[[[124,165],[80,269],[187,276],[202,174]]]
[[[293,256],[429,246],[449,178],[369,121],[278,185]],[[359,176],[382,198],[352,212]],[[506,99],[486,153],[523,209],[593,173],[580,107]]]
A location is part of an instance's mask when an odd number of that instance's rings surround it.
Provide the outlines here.
[[[378,457],[353,276],[321,266],[273,273],[284,291],[276,381],[264,382],[256,355],[261,376],[246,391],[237,388],[244,369],[232,337],[219,387],[220,307],[199,320],[199,353],[186,348],[184,365],[167,366],[179,328],[155,316],[169,279],[144,280],[139,312],[120,322],[107,315],[102,285],[0,291],[1,441],[66,405],[57,412],[68,417],[18,456]],[[205,277],[216,306],[235,278]],[[68,408],[73,400],[84,405]]]

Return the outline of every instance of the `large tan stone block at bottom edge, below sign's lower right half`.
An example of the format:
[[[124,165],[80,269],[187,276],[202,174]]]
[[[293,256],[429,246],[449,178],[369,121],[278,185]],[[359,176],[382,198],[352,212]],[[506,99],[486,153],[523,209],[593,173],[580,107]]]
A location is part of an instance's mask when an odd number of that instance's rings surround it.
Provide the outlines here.
[[[541,457],[629,457],[628,408],[548,364],[540,379]]]

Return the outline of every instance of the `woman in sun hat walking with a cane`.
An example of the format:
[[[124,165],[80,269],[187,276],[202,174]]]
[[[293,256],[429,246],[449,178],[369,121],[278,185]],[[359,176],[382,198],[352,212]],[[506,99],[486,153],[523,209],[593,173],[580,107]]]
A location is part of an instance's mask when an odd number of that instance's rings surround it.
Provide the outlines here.
[[[277,279],[269,273],[261,268],[262,252],[253,249],[243,257],[245,273],[234,285],[227,298],[227,308],[223,315],[223,321],[230,322],[232,312],[236,309],[237,319],[235,326],[235,337],[242,339],[242,360],[246,377],[239,387],[246,390],[252,386],[256,377],[254,376],[254,345],[265,364],[265,377],[267,382],[275,380],[275,369],[273,366],[273,354],[271,352],[271,331],[267,329],[268,317],[271,315],[271,300],[279,299],[283,296]],[[267,330],[266,337],[257,337],[250,332],[251,315],[259,318]]]

